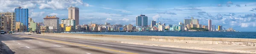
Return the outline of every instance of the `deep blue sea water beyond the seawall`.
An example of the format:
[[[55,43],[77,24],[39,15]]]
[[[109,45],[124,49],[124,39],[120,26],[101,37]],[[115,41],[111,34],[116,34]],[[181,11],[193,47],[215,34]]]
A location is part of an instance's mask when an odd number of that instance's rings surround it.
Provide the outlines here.
[[[174,37],[221,37],[256,39],[256,32],[82,32],[78,34],[114,34],[114,35],[145,35]]]

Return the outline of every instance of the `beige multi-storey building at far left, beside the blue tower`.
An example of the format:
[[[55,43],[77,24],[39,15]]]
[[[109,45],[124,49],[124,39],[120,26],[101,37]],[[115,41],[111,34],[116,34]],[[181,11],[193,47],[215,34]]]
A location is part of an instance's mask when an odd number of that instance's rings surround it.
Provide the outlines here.
[[[2,12],[0,14],[4,14],[3,16],[7,17],[8,30],[7,31],[15,31],[16,26],[16,14],[15,12]]]

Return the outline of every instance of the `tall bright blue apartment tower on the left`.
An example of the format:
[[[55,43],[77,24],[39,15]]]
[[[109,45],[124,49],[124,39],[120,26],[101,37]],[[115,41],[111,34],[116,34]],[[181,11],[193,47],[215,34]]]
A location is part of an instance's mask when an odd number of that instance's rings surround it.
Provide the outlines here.
[[[28,30],[28,18],[29,18],[29,9],[23,9],[21,7],[15,8],[16,13],[16,22],[23,23],[23,25],[26,26],[26,29],[24,31]]]

